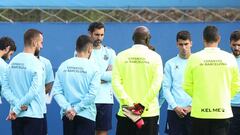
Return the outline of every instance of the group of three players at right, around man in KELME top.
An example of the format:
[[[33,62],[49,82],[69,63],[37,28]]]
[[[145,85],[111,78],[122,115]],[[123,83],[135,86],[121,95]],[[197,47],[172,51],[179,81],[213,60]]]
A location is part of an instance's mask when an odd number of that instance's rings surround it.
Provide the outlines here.
[[[230,35],[232,54],[219,49],[220,39],[217,27],[207,26],[204,49],[192,54],[190,33],[177,33],[179,53],[166,62],[162,83],[168,103],[165,132],[169,135],[240,133],[240,95],[236,94],[240,85],[240,31]]]

